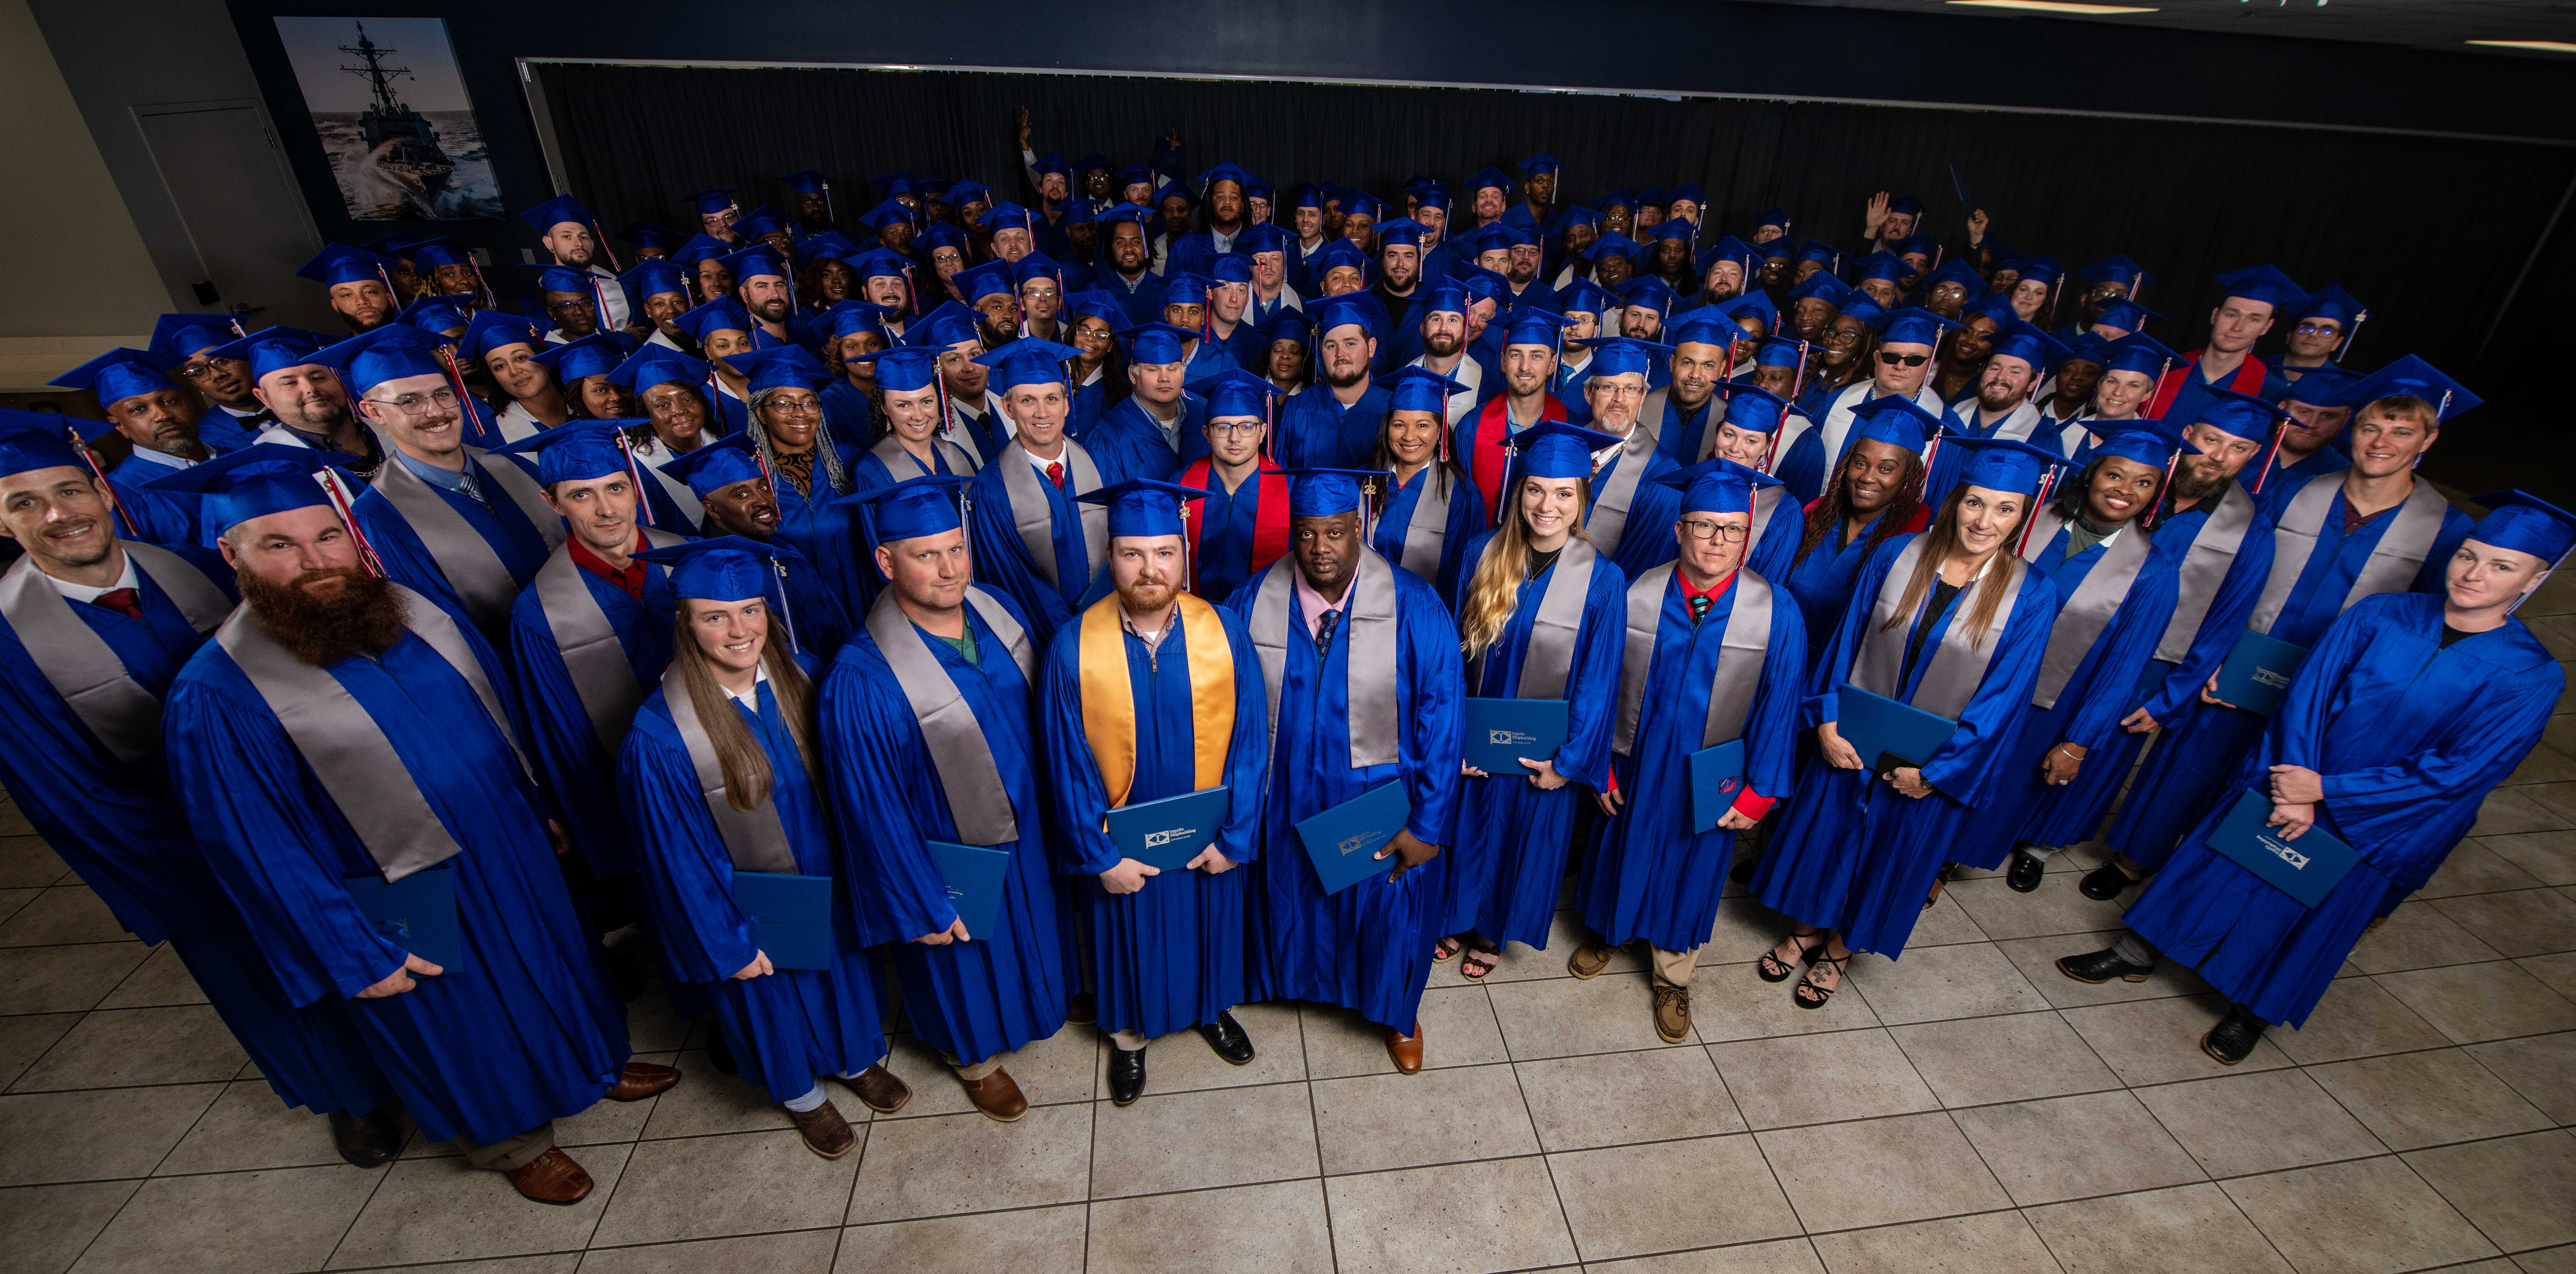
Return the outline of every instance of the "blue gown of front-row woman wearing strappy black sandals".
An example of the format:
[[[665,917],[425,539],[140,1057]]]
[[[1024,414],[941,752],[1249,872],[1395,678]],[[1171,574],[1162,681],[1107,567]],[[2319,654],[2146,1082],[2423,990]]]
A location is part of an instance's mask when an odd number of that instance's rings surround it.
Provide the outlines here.
[[[1852,676],[1852,658],[1870,624],[1870,598],[1911,539],[1911,534],[1888,536],[1860,570],[1855,603],[1844,609],[1834,642],[1808,678],[1814,720],[1839,720],[1837,696]],[[1973,591],[1960,591],[1940,614],[1914,616],[1914,624],[1929,624],[1929,632],[1896,699],[1914,696],[1960,603],[1973,606]],[[2038,570],[2022,573],[2012,619],[2002,632],[1986,634],[1994,650],[1986,678],[1968,699],[1958,730],[1922,766],[1924,781],[1935,789],[1929,797],[1904,797],[1868,769],[1834,769],[1821,756],[1808,763],[1798,776],[1798,797],[1780,820],[1780,836],[1762,854],[1754,897],[1798,923],[1839,928],[1855,952],[1878,952],[1888,959],[1904,954],[1924,895],[1932,892],[1932,874],[1950,861],[1950,843],[1971,810],[1994,794],[2004,743],[2017,714],[2030,707],[2030,683],[2040,676],[2056,611],[2056,585]]]

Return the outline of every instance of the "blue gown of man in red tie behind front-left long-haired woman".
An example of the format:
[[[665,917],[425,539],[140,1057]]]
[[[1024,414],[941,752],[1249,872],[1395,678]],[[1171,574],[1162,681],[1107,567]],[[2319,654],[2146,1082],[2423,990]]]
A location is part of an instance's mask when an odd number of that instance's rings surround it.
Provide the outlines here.
[[[670,665],[670,627],[680,609],[670,591],[670,570],[644,562],[644,601],[587,570],[577,570],[577,575],[618,634],[636,686],[657,686]],[[582,709],[582,694],[572,686],[572,671],[564,668],[564,652],[554,642],[554,624],[546,622],[536,585],[520,591],[518,601],[510,603],[510,673],[528,714],[533,761],[564,807],[572,848],[582,851],[595,879],[631,869],[626,815],[618,810],[618,794],[611,784],[618,758],[600,748],[600,735],[590,727],[590,712]]]

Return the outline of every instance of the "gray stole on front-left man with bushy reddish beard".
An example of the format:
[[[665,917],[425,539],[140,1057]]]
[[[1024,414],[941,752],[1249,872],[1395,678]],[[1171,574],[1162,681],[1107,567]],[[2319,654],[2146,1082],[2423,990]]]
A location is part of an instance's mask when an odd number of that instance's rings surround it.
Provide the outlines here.
[[[399,469],[399,464],[389,464],[386,469]],[[466,642],[464,629],[435,601],[394,580],[386,580],[386,585],[402,598],[402,627],[412,629],[412,637],[420,637],[438,658],[448,660],[448,668],[466,678],[466,686],[474,686],[474,699],[482,699],[484,712],[492,717],[492,730],[500,730],[500,738],[510,743],[510,753],[518,756],[510,712],[484,676],[482,660],[474,658],[474,645]],[[286,738],[304,753],[304,763],[322,781],[322,792],[330,792],[332,805],[340,807],[340,818],[358,833],[358,843],[366,846],[366,856],[376,859],[386,882],[438,867],[464,851],[448,836],[448,828],[438,823],[438,810],[430,810],[430,799],[420,794],[420,784],[404,774],[394,740],[384,738],[376,717],[330,671],[314,668],[278,645],[260,627],[260,619],[250,614],[250,606],[232,611],[232,619],[214,629],[214,640],[232,655],[232,663],[242,665],[242,676],[250,678],[250,686],[260,691],[260,701],[278,717]],[[528,758],[520,756],[518,766],[526,774]]]

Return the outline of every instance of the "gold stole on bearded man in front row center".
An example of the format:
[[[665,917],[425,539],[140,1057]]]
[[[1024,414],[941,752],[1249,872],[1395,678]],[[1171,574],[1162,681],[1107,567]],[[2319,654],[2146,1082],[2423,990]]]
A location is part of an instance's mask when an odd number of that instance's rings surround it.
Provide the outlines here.
[[[1226,781],[1226,750],[1234,745],[1234,645],[1226,624],[1193,593],[1180,593],[1180,632],[1190,655],[1190,750],[1195,753],[1193,792]],[[1082,611],[1082,647],[1074,665],[1082,673],[1082,738],[1100,763],[1100,787],[1110,810],[1126,805],[1136,787],[1136,691],[1128,681],[1126,624],[1118,622],[1118,596],[1110,593]]]

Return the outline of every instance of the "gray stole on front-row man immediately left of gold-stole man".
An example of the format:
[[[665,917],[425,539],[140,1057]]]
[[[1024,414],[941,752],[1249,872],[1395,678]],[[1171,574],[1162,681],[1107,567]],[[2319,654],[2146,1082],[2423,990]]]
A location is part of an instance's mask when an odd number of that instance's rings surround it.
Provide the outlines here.
[[[966,588],[966,606],[984,616],[984,627],[1010,650],[1010,663],[1020,676],[1030,676],[1033,655],[1028,629],[981,588]],[[1020,815],[1010,807],[1010,789],[1002,787],[1002,769],[992,761],[992,743],[974,717],[974,704],[958,691],[956,678],[930,650],[930,637],[912,624],[912,616],[886,588],[868,609],[868,637],[894,668],[894,681],[912,704],[912,720],[922,727],[922,745],[930,750],[930,769],[948,794],[948,820],[958,825],[958,841],[969,846],[999,846],[1020,838]]]

